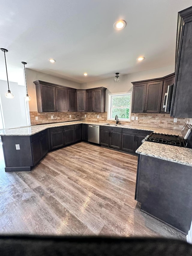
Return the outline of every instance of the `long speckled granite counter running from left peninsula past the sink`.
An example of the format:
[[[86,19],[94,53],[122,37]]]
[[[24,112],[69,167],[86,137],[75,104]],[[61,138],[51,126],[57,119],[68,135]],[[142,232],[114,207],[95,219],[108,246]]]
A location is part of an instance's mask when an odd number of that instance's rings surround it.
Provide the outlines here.
[[[181,132],[180,130],[156,128],[156,127],[148,127],[148,126],[116,125],[116,124],[107,125],[106,123],[99,123],[99,122],[73,121],[73,122],[53,123],[53,124],[47,124],[47,125],[35,125],[35,126],[13,128],[13,129],[4,129],[4,130],[0,131],[0,136],[30,136],[30,135],[36,134],[40,131],[43,131],[47,128],[59,127],[59,126],[65,126],[65,125],[75,125],[75,124],[112,126],[112,127],[126,128],[126,129],[155,131],[157,133],[166,133],[166,134],[175,134],[175,135],[180,135],[180,132]]]

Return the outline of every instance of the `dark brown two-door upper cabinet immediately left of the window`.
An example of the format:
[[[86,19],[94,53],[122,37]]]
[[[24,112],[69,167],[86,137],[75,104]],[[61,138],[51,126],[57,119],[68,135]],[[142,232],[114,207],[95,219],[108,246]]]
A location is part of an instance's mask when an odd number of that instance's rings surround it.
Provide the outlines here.
[[[86,90],[86,111],[105,112],[105,92],[107,88],[99,87]]]

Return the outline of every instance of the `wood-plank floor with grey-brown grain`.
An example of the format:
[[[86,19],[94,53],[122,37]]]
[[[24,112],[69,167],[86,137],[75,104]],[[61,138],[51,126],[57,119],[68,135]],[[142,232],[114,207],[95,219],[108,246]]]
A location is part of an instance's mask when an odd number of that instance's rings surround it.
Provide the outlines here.
[[[137,156],[80,142],[49,152],[31,172],[5,173],[2,152],[0,164],[0,233],[186,239],[140,211]]]

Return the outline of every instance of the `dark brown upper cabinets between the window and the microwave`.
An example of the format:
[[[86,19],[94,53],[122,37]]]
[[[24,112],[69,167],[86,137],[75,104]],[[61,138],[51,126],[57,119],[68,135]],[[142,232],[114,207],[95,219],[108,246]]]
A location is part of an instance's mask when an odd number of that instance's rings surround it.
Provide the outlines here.
[[[132,113],[166,113],[162,112],[164,93],[167,92],[166,82],[174,80],[174,73],[166,77],[132,82],[133,98]],[[163,94],[162,94],[163,92]]]

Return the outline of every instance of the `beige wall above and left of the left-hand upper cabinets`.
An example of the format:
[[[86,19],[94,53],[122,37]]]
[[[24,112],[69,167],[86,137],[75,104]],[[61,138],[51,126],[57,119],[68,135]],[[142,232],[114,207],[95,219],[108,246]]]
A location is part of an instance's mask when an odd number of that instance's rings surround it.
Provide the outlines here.
[[[36,80],[41,80],[49,83],[68,86],[71,88],[81,89],[80,83],[75,83],[63,78],[51,76],[51,75],[38,72],[29,68],[26,68],[26,78],[27,78],[28,94],[29,96],[31,96],[31,101],[29,101],[30,111],[37,111],[37,97],[36,97],[35,84],[33,83]]]

